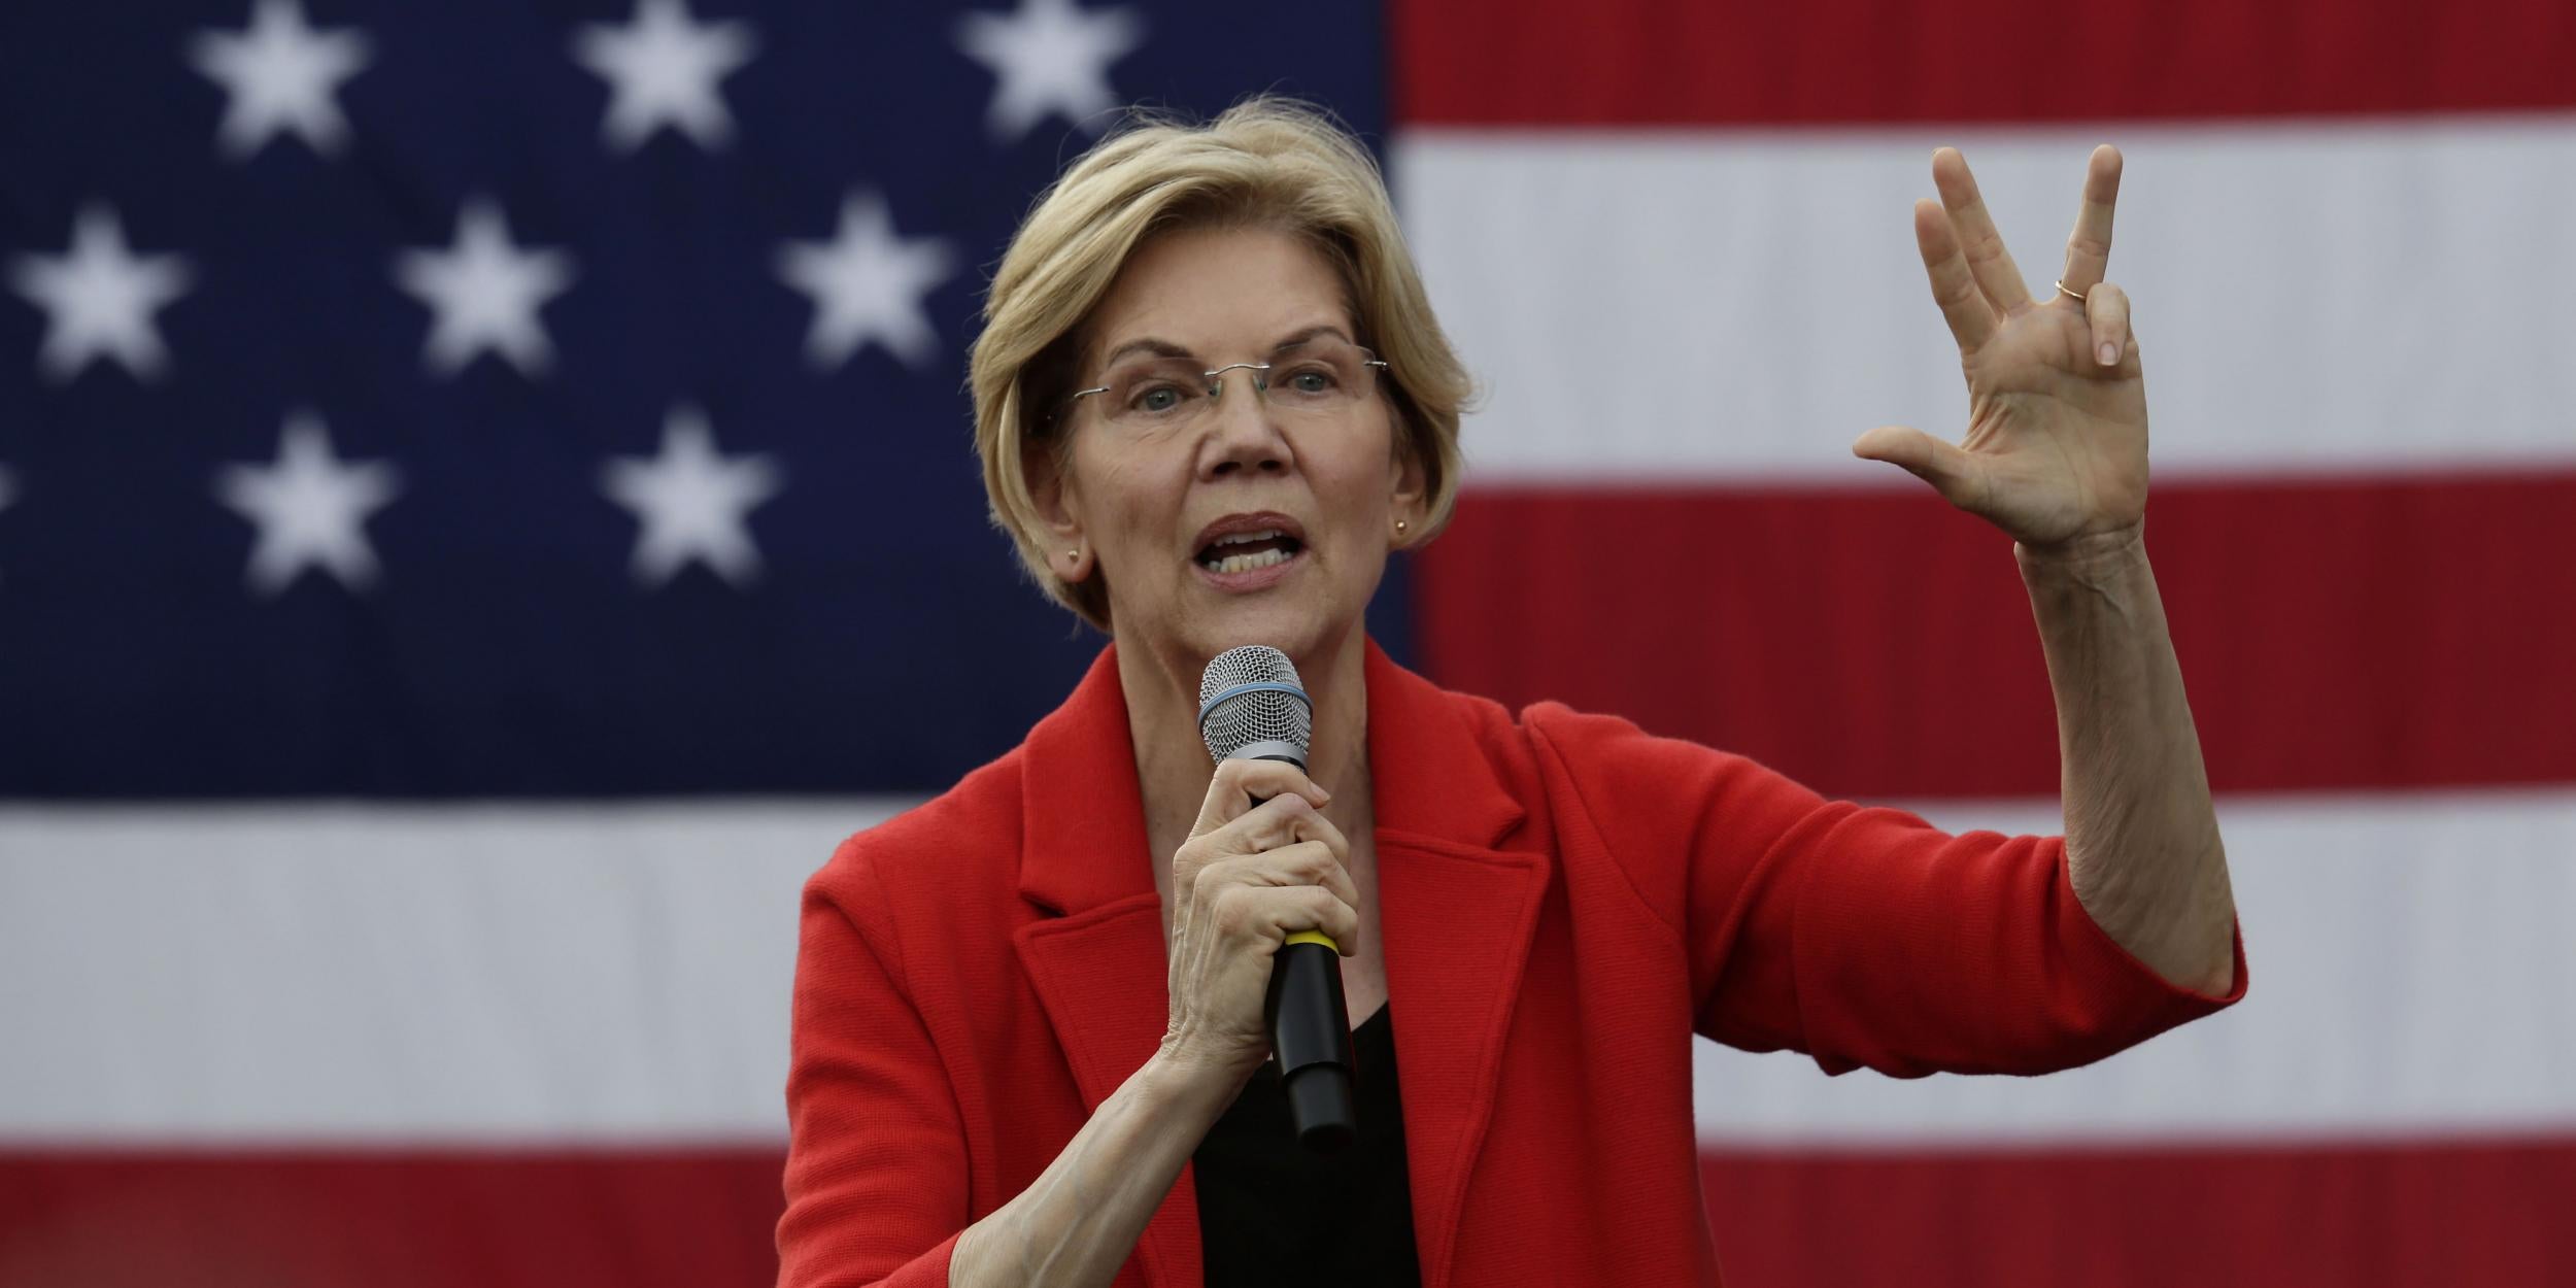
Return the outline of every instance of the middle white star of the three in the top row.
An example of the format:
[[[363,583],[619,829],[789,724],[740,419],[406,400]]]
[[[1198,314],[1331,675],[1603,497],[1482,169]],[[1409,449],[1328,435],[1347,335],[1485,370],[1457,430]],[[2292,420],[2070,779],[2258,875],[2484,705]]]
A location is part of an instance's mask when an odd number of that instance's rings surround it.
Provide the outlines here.
[[[634,152],[662,126],[714,152],[734,137],[716,82],[750,62],[755,46],[750,23],[696,23],[685,0],[636,0],[631,23],[585,26],[572,57],[608,80],[600,134],[618,152]]]

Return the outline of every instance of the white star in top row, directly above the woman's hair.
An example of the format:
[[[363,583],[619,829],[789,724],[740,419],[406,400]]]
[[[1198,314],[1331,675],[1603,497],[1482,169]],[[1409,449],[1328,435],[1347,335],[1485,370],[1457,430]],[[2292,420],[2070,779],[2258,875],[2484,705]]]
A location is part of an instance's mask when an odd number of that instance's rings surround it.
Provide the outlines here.
[[[958,49],[997,80],[984,126],[1015,142],[1046,113],[1100,134],[1118,106],[1110,64],[1144,44],[1144,18],[1128,8],[1084,10],[1074,0],[1020,0],[1010,15],[969,13]]]

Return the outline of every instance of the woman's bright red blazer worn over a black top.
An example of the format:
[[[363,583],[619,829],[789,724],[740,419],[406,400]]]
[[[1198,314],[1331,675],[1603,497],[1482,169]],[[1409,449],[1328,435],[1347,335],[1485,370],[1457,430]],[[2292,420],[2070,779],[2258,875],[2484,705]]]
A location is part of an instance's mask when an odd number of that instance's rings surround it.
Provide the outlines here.
[[[2038,1074],[2246,989],[2177,989],[2058,837],[1945,835],[1368,647],[1378,917],[1422,1283],[1718,1283],[1690,1036],[1829,1074]],[[781,1285],[945,1285],[1167,1020],[1115,649],[1028,742],[804,894]],[[1121,1285],[1200,1283],[1190,1170]]]

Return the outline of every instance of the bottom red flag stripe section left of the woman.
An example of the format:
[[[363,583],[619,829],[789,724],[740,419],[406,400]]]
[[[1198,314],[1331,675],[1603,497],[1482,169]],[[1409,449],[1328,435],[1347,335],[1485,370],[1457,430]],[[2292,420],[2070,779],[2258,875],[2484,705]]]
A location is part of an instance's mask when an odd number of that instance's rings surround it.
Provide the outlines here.
[[[778,1149],[0,1151],[0,1288],[762,1288]]]

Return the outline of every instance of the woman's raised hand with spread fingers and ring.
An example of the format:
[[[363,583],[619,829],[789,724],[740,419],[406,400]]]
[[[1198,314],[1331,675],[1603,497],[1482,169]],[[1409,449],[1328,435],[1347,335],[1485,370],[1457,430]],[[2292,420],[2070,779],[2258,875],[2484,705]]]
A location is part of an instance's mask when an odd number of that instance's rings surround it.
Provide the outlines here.
[[[2146,518],[2146,374],[2128,294],[2102,281],[2120,152],[2092,152],[2063,289],[2045,301],[2030,299],[1958,149],[1932,152],[1932,183],[1940,204],[1914,204],[1914,245],[1958,337],[1968,433],[1953,446],[1880,425],[1852,456],[1914,471],[2025,546],[2136,528]]]

